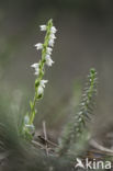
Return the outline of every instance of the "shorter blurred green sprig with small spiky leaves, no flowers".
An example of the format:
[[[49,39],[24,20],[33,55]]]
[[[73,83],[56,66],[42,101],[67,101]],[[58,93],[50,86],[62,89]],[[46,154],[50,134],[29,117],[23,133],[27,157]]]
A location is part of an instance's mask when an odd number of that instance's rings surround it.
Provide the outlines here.
[[[97,71],[95,69],[91,69],[88,76],[87,87],[84,88],[81,103],[79,105],[79,111],[72,116],[72,121],[66,125],[65,130],[63,132],[63,137],[60,138],[58,148],[60,156],[64,156],[67,152],[78,155],[77,148],[80,146],[80,141],[82,142],[82,140],[88,140],[89,134],[87,134],[87,121],[91,119],[90,116],[93,112],[95,94]]]

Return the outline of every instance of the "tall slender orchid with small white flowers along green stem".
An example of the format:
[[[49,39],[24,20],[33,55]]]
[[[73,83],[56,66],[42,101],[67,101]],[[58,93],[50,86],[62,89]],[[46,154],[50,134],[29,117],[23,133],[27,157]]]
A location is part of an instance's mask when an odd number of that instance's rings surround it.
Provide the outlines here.
[[[35,70],[34,75],[36,76],[36,79],[34,99],[30,102],[30,112],[24,116],[22,123],[21,134],[26,138],[32,138],[32,133],[35,130],[33,122],[36,115],[36,102],[43,98],[45,84],[48,82],[48,80],[44,79],[45,66],[52,67],[54,64],[50,55],[55,44],[55,34],[57,30],[53,25],[53,20],[49,20],[46,25],[41,25],[39,29],[42,32],[46,32],[46,34],[44,43],[37,43],[35,45],[36,49],[42,52],[41,60],[31,65]]]

